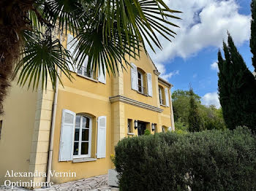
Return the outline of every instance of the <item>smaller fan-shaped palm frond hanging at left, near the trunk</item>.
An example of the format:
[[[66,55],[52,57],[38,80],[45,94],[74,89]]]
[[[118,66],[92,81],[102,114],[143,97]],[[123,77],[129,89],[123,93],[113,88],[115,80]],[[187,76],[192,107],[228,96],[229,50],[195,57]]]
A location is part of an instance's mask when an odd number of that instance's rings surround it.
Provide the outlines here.
[[[55,88],[56,77],[59,78],[56,67],[62,71],[70,80],[69,52],[63,47],[59,39],[49,39],[39,31],[24,31],[26,42],[21,55],[22,59],[15,67],[12,79],[19,74],[18,84],[24,86],[28,81],[33,90],[37,89],[41,80],[42,88],[47,88],[48,77]]]

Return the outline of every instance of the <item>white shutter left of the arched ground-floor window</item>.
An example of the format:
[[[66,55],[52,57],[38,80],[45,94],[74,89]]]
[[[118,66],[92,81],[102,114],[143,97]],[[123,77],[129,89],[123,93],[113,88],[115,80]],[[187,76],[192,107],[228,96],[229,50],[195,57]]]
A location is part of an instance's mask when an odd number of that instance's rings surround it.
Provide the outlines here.
[[[74,128],[75,113],[63,109],[61,119],[61,139],[59,143],[59,161],[72,160]]]

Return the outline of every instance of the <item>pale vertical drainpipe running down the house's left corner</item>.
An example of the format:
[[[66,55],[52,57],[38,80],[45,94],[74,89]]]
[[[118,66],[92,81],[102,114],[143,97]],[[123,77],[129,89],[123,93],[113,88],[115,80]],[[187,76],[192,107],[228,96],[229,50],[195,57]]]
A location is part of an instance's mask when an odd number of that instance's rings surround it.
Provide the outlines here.
[[[57,73],[59,75],[59,67],[57,68]],[[59,77],[56,77],[55,93],[54,93],[54,99],[53,99],[53,115],[52,115],[52,122],[50,127],[50,148],[49,148],[48,171],[47,171],[46,182],[50,182],[50,170],[51,170],[51,164],[53,161],[53,136],[54,136],[55,121],[56,121],[58,89],[59,89]]]

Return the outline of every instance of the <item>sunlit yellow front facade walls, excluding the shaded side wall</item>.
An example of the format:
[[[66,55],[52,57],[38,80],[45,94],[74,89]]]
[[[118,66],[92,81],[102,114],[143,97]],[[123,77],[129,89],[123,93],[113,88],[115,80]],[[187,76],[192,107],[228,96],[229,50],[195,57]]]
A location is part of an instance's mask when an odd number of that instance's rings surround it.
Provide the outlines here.
[[[140,61],[131,60],[138,68],[146,73],[152,75],[152,90],[153,96],[149,97],[142,95],[131,89],[131,74],[130,69],[121,72],[116,77],[112,75],[106,76],[106,84],[95,82],[84,77],[80,77],[72,73],[74,79],[69,82],[67,77],[61,76],[61,81],[64,87],[59,87],[59,96],[56,113],[56,128],[54,133],[54,147],[53,147],[53,165],[52,171],[69,172],[75,171],[76,177],[58,178],[53,177],[51,180],[56,183],[72,181],[75,179],[82,179],[90,176],[97,176],[100,174],[107,174],[108,169],[112,167],[110,154],[114,153],[114,146],[127,133],[127,120],[132,120],[132,133],[138,135],[138,130],[133,127],[134,120],[148,122],[147,128],[151,130],[151,123],[157,124],[155,132],[162,132],[162,125],[171,126],[170,123],[170,107],[163,107],[162,113],[154,112],[148,109],[143,109],[138,106],[124,104],[120,101],[110,103],[109,98],[115,95],[123,95],[135,101],[159,107],[158,95],[158,76],[154,74],[154,64],[145,53],[142,53]],[[97,79],[97,78],[96,78]],[[97,81],[97,80],[96,80]],[[146,79],[145,79],[146,81]],[[170,87],[169,87],[170,88]],[[72,163],[59,162],[59,140],[61,133],[61,112],[62,109],[69,109],[75,113],[89,114],[95,121],[99,116],[107,116],[107,140],[106,140],[106,157],[97,159],[96,161]],[[168,117],[169,115],[169,117]],[[162,122],[159,122],[159,118]],[[93,122],[93,137],[97,132],[97,122]],[[151,133],[152,132],[151,130]],[[91,157],[95,157],[97,148],[97,137],[91,143]]]

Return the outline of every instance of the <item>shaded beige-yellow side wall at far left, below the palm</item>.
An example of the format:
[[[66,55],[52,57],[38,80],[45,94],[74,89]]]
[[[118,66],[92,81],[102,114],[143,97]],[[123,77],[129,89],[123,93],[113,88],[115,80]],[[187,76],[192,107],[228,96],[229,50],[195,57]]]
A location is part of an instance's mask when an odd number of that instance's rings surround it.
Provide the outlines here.
[[[5,178],[7,170],[29,171],[31,141],[37,105],[37,92],[19,87],[16,81],[4,100],[4,115],[0,139],[0,185],[4,180],[19,181],[20,178]],[[22,179],[21,180],[25,180]]]

